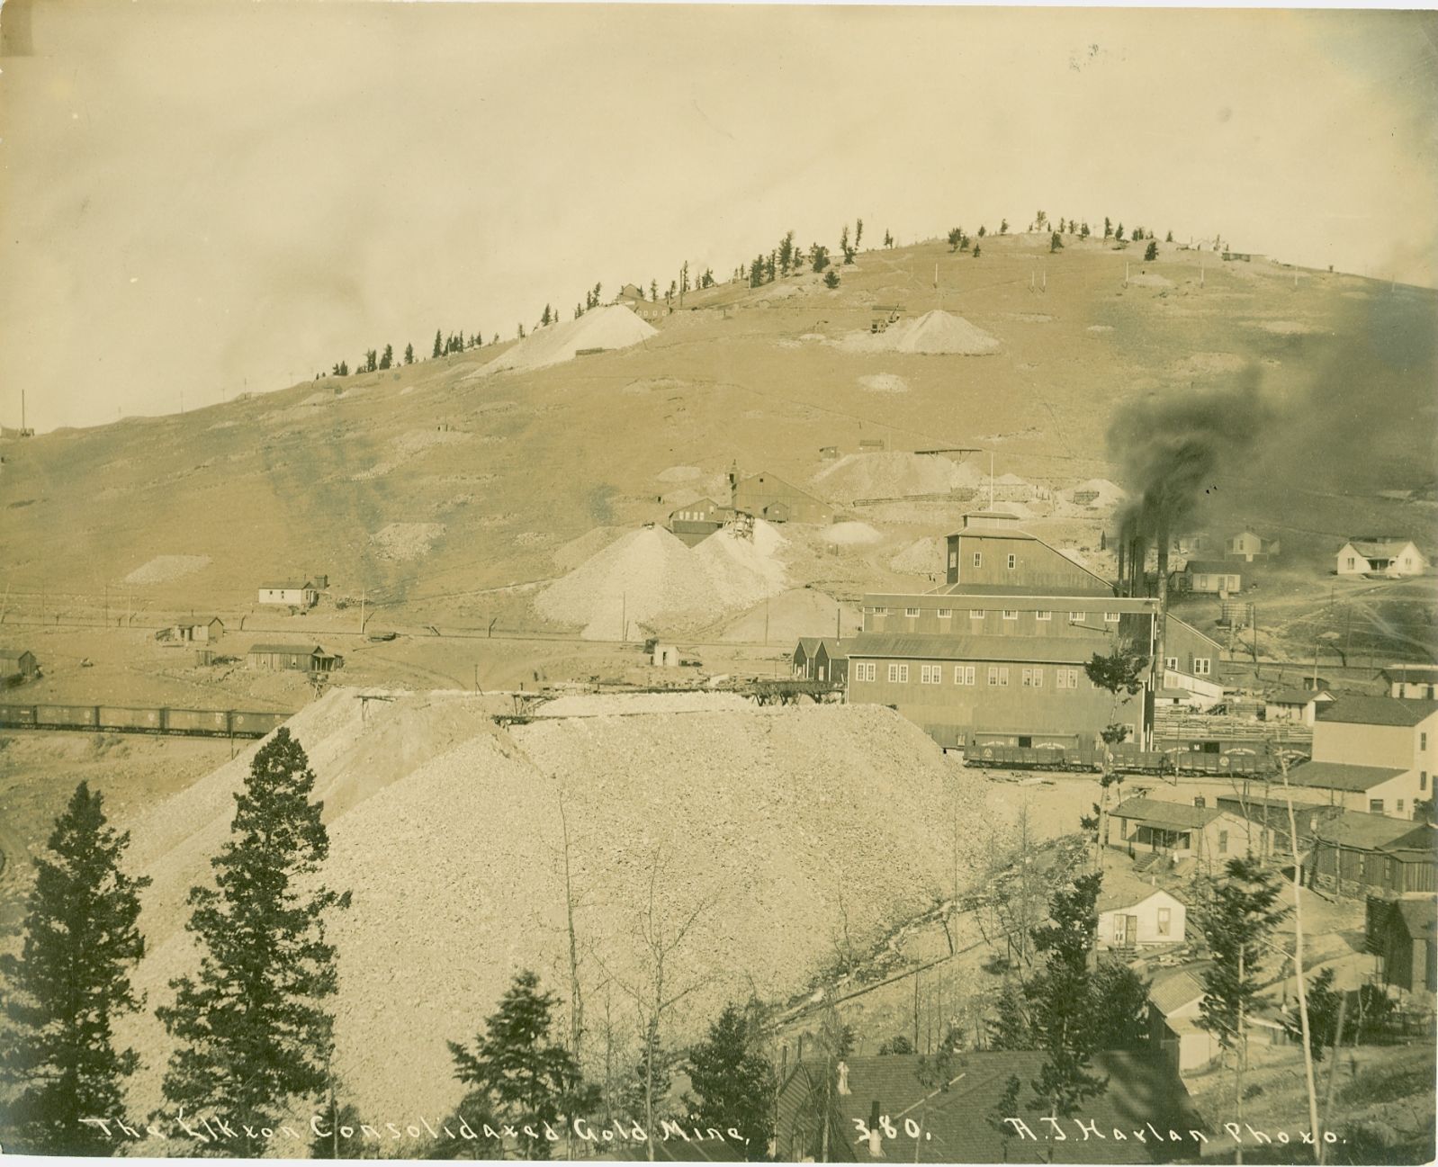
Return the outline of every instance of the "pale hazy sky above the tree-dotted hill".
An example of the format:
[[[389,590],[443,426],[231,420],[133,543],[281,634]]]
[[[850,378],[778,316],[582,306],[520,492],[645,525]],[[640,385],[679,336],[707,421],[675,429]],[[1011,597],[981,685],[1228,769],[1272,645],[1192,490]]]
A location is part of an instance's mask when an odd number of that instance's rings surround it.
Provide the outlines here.
[[[7,0],[0,423],[175,412],[794,229],[1438,286],[1426,11]]]

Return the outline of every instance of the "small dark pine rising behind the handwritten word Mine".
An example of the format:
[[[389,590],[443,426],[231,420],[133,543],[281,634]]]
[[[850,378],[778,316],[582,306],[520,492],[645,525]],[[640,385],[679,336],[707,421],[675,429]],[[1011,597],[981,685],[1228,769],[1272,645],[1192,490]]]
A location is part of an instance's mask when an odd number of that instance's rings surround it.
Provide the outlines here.
[[[774,1137],[774,1068],[756,1038],[751,1019],[725,1006],[705,1041],[689,1051],[696,1097],[684,1098],[696,1125],[738,1130],[748,1160],[765,1158]]]

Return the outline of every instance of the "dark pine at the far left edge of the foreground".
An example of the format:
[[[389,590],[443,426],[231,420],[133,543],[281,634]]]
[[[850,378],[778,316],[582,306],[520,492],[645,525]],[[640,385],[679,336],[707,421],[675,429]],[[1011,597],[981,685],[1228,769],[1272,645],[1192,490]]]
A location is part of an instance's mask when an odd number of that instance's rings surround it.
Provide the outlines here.
[[[129,835],[108,825],[102,802],[85,782],[75,788],[36,859],[24,947],[0,957],[0,1082],[14,1091],[0,1143],[12,1151],[111,1154],[114,1144],[81,1120],[116,1114],[138,1062],[115,1049],[111,1026],[142,1003],[129,969],[145,950],[137,892],[150,880],[119,870]]]

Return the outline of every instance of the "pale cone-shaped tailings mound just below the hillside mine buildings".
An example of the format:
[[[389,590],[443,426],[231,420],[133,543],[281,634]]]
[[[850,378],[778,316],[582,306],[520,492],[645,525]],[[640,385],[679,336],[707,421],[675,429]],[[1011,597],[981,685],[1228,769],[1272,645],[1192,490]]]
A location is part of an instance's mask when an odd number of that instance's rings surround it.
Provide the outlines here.
[[[630,532],[545,588],[535,609],[584,625],[585,640],[621,640],[748,608],[787,586],[784,538],[762,519],[754,526],[754,539],[720,530],[693,549],[659,526]]]

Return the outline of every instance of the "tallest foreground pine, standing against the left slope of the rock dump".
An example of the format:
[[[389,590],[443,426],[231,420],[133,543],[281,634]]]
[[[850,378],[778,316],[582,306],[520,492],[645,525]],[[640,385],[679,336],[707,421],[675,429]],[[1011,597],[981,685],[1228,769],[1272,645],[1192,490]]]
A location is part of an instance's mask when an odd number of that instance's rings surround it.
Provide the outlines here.
[[[200,941],[200,974],[170,982],[175,1002],[155,1010],[177,1042],[165,1099],[187,1115],[259,1130],[329,1084],[332,1018],[322,1002],[335,992],[335,950],[325,914],[348,907],[349,892],[313,885],[329,852],[313,786],[305,752],[282,726],[234,795],[230,841],[210,859],[216,887],[190,890],[186,927]],[[253,1156],[263,1147],[206,1150]]]

